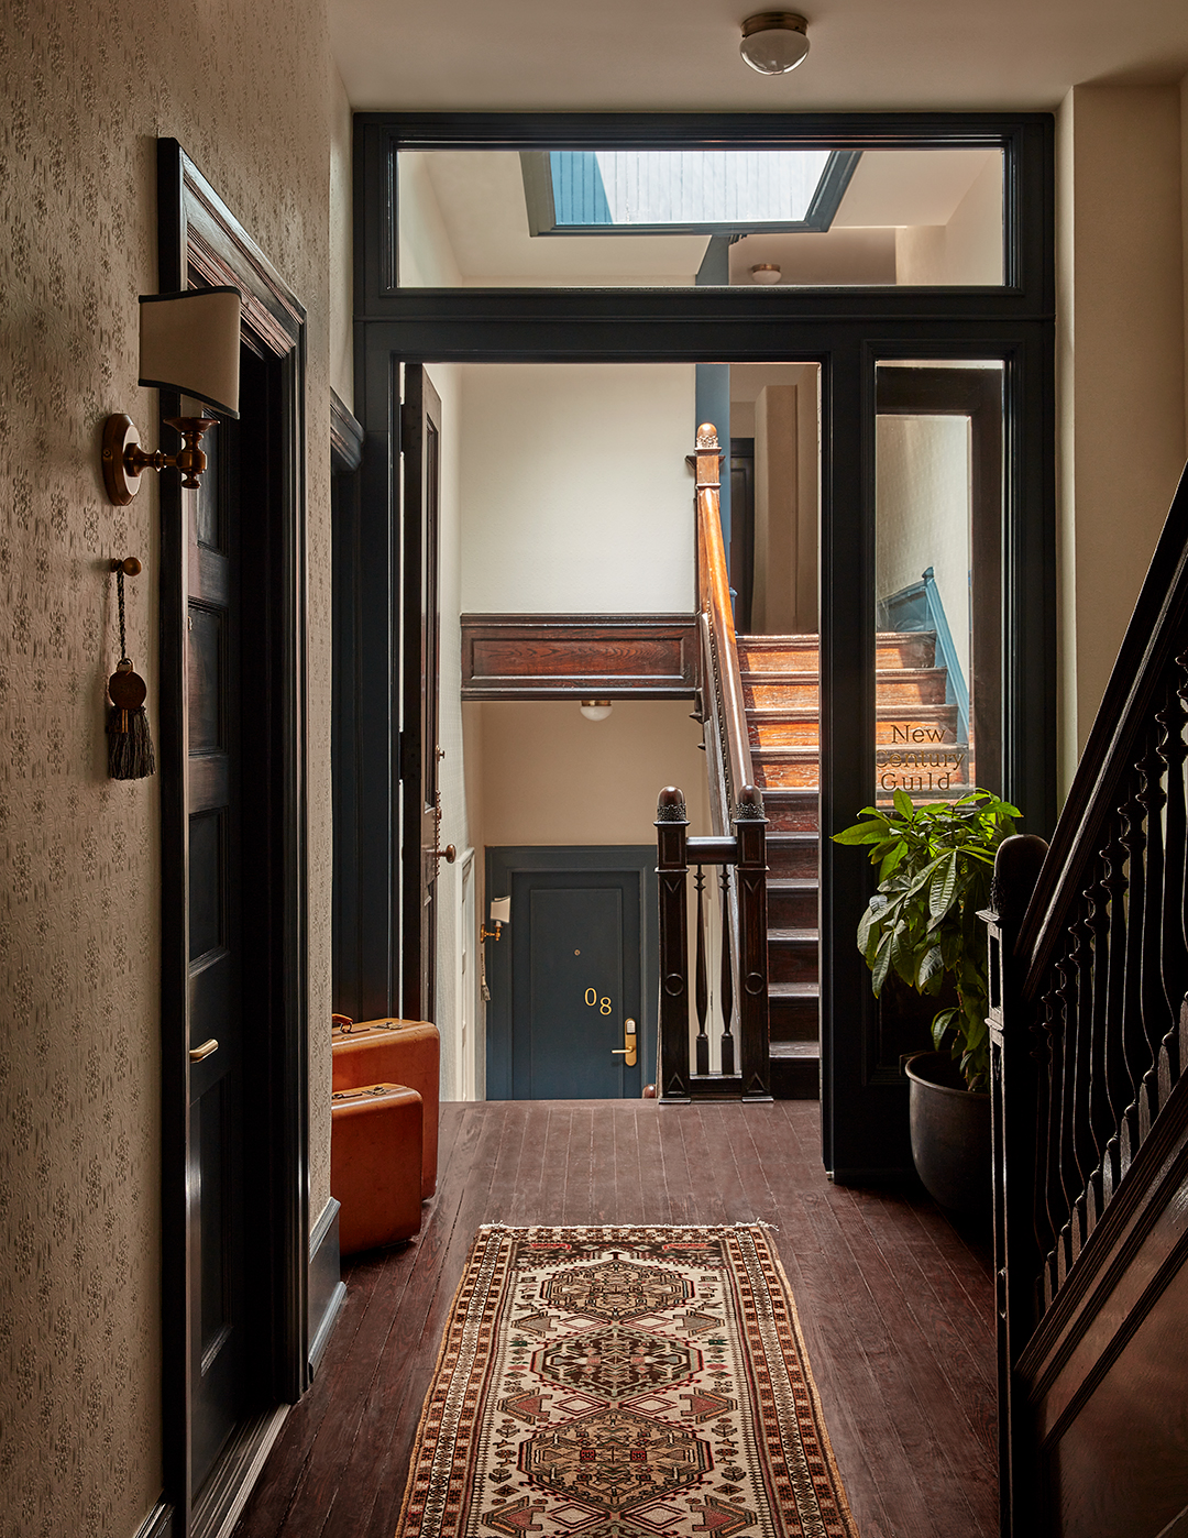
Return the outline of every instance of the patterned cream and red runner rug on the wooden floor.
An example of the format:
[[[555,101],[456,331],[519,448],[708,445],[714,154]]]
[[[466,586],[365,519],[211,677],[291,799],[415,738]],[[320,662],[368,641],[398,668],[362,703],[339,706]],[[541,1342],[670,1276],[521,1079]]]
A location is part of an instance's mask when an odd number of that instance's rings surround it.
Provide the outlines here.
[[[398,1538],[856,1538],[761,1226],[484,1227]]]

